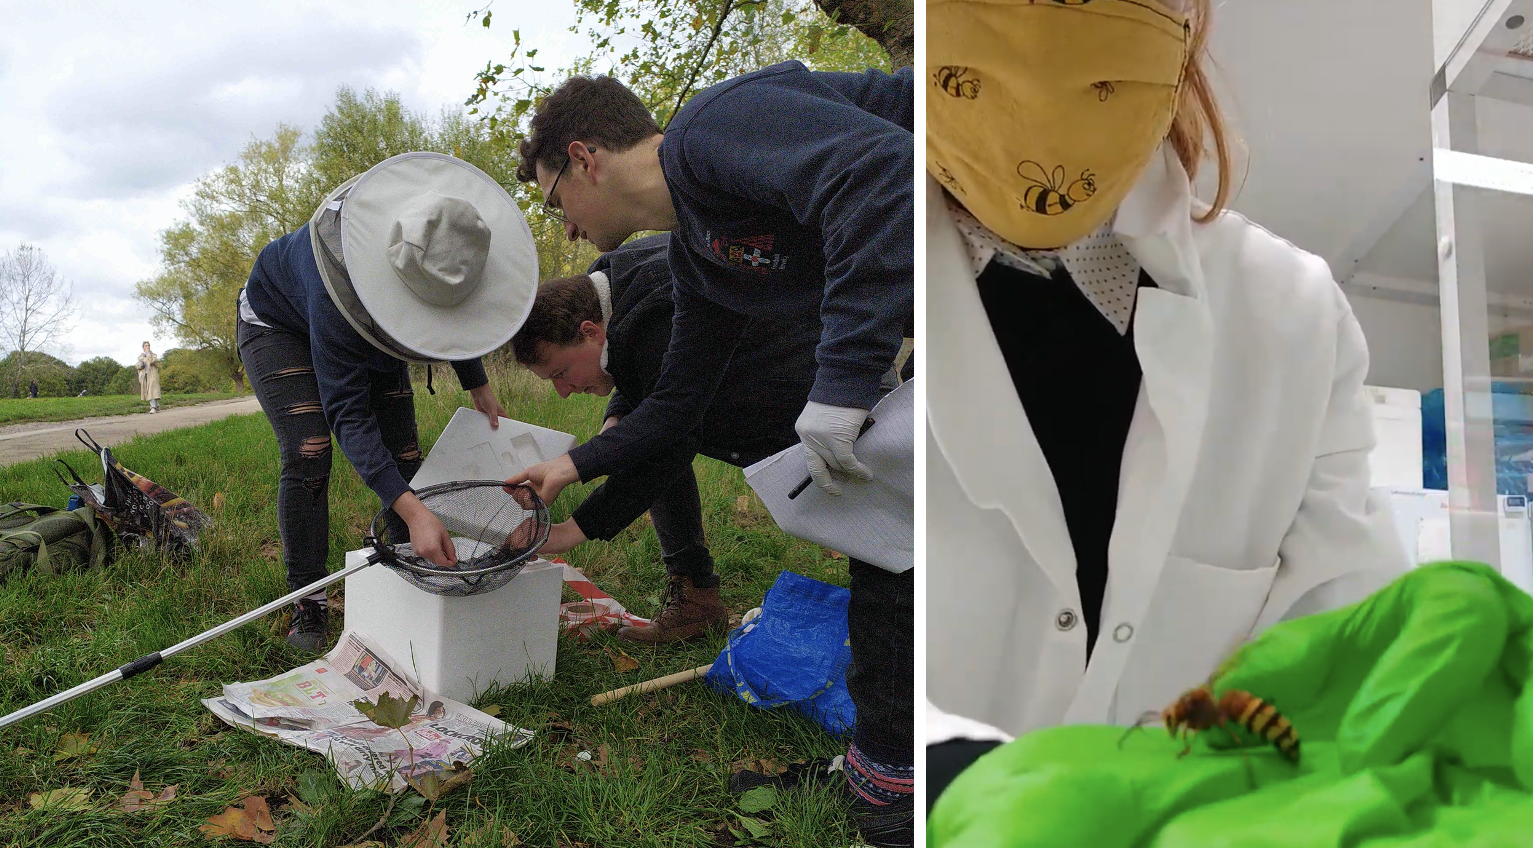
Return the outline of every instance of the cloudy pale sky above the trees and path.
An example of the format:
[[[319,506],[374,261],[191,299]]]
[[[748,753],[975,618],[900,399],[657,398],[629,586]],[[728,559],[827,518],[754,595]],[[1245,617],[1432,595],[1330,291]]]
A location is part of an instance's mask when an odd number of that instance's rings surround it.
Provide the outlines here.
[[[568,0],[0,0],[0,253],[40,247],[74,284],[71,364],[129,362],[156,336],[133,284],[201,175],[279,123],[310,129],[337,86],[394,91],[416,110],[462,104],[511,29],[566,66],[584,41]],[[512,20],[515,18],[515,20]]]

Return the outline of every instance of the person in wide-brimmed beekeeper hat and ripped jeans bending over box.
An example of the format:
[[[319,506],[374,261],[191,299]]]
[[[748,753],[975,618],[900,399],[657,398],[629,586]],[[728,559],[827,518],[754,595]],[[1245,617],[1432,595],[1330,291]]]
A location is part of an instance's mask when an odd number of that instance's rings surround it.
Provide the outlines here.
[[[505,345],[537,292],[522,210],[489,175],[440,153],[400,153],[334,189],[308,224],[256,258],[236,339],[278,436],[278,529],[288,588],[325,577],[330,436],[410,526],[417,554],[456,560],[410,489],[422,463],[408,364],[451,362],[491,427],[505,416],[483,354]],[[288,643],[327,646],[324,592],[295,606]]]

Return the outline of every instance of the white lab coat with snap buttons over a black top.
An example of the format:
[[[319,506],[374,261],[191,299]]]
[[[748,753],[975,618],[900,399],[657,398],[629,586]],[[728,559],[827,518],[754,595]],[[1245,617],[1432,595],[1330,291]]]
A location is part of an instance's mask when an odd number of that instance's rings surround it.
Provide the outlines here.
[[[1407,569],[1370,496],[1368,351],[1330,270],[1193,204],[1163,146],[1114,219],[1158,288],[1137,296],[1143,381],[1088,666],[1054,477],[928,181],[927,681],[946,712],[1012,735],[1135,723],[1264,628]]]

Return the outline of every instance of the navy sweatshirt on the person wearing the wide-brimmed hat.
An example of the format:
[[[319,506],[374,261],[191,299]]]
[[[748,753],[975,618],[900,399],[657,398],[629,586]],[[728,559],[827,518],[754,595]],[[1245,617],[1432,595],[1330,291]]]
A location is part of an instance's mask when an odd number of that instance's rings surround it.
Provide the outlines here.
[[[384,446],[377,417],[368,404],[368,373],[394,373],[405,362],[362,339],[336,308],[314,262],[308,224],[261,249],[245,282],[245,295],[262,322],[308,339],[325,422],[368,488],[379,494],[384,505],[393,505],[410,485]],[[488,382],[479,357],[456,362],[453,370],[465,390]]]

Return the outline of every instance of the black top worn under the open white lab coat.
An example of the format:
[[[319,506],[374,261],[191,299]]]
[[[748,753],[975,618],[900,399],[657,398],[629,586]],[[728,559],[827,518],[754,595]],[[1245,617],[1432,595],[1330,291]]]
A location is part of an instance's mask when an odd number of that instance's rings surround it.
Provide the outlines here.
[[[1141,270],[1140,285],[1155,282]],[[979,287],[1017,397],[1060,491],[1091,658],[1108,585],[1118,469],[1140,394],[1134,321],[1129,333],[1120,334],[1063,269],[1042,278],[991,262]]]

